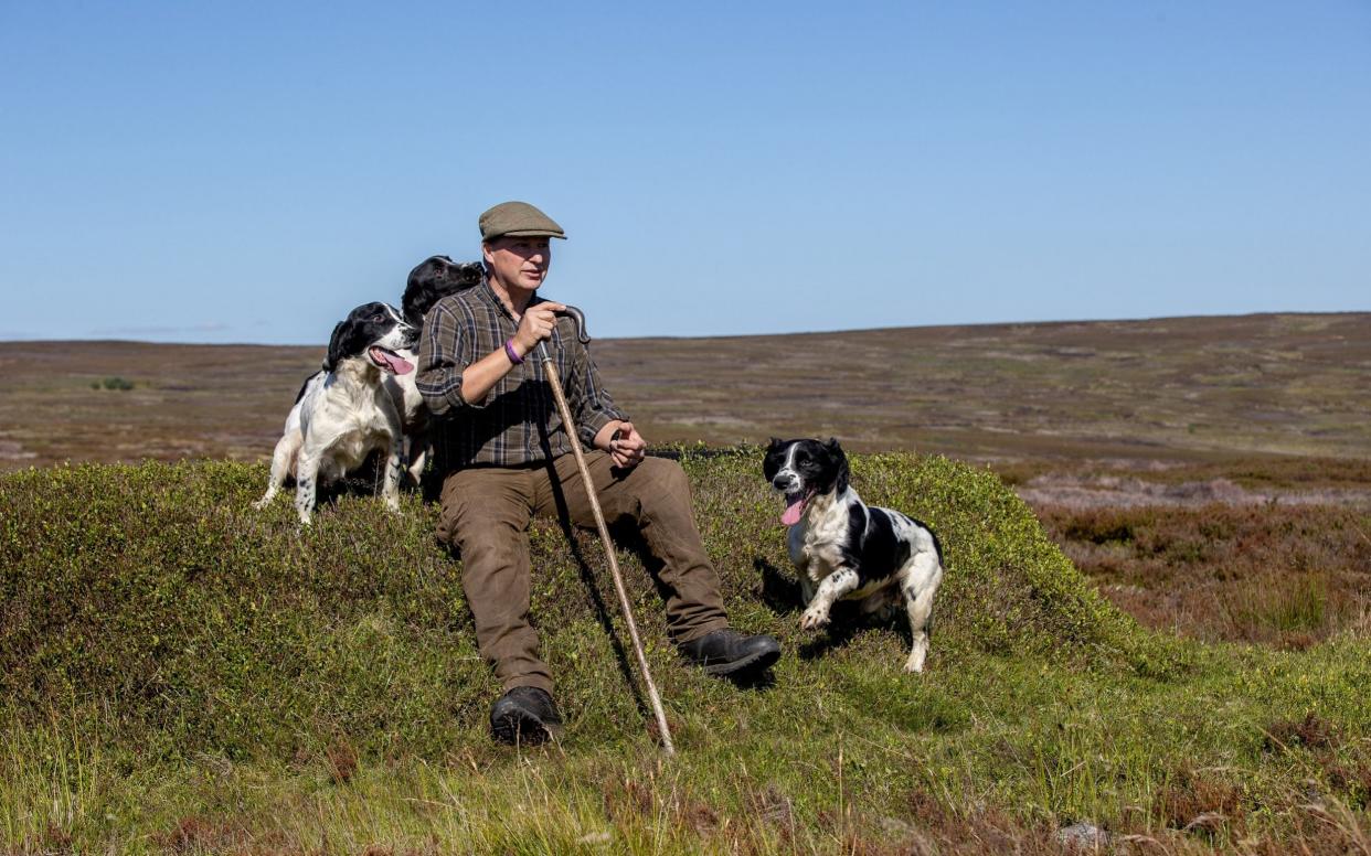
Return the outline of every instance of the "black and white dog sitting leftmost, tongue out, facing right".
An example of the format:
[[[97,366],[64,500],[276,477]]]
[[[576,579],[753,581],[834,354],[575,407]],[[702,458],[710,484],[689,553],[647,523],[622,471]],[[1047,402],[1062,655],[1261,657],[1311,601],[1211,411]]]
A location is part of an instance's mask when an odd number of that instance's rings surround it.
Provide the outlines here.
[[[293,475],[295,509],[300,522],[308,523],[318,485],[343,478],[373,451],[381,451],[381,496],[391,511],[400,509],[403,422],[385,382],[413,374],[409,349],[415,336],[417,330],[385,303],[359,305],[333,327],[324,368],[304,381],[285,419],[258,508]]]

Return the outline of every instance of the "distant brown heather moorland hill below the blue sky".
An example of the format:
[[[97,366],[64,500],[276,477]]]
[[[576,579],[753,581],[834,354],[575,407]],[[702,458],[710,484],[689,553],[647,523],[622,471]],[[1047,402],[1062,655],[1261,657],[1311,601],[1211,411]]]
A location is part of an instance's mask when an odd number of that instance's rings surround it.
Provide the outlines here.
[[[1366,312],[598,340],[592,352],[653,442],[832,434],[975,460],[1371,456]],[[266,459],[322,356],[322,344],[0,342],[0,468]]]

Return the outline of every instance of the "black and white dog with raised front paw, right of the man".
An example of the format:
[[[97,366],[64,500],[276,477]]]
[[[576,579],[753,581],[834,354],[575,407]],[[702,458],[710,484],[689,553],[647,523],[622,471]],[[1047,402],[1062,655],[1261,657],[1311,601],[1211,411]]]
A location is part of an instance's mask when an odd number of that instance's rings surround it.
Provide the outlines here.
[[[772,440],[762,473],[786,496],[780,519],[790,526],[790,560],[808,607],[801,629],[827,625],[836,600],[857,600],[865,614],[888,614],[902,601],[913,640],[905,671],[923,671],[943,575],[938,536],[898,511],[862,503],[836,440]]]

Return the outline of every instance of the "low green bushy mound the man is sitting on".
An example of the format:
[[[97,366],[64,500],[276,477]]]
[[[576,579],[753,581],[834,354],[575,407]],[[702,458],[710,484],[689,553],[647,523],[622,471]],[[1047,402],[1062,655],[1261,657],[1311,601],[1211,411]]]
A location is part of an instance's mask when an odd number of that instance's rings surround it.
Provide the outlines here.
[[[764,583],[792,577],[758,455],[692,456],[698,518],[735,623],[808,642]],[[343,496],[300,530],[291,503],[256,511],[265,468],[222,462],[69,466],[4,478],[0,698],[11,715],[97,707],[156,751],[289,755],[345,733],[440,755],[480,723],[492,686],[474,649],[459,564],[435,508],[402,515]],[[868,501],[928,522],[946,551],[932,668],[975,652],[1065,667],[1156,670],[1164,652],[1100,599],[988,471],[860,456]],[[569,686],[620,681],[598,542],[532,531],[533,615]],[[581,559],[577,559],[577,555]],[[644,633],[662,607],[622,556]],[[596,578],[600,578],[596,581]],[[607,604],[607,605],[606,605]],[[602,608],[603,607],[603,608]],[[607,616],[606,616],[607,614]],[[893,644],[902,644],[898,629]],[[603,726],[617,727],[613,704]]]

